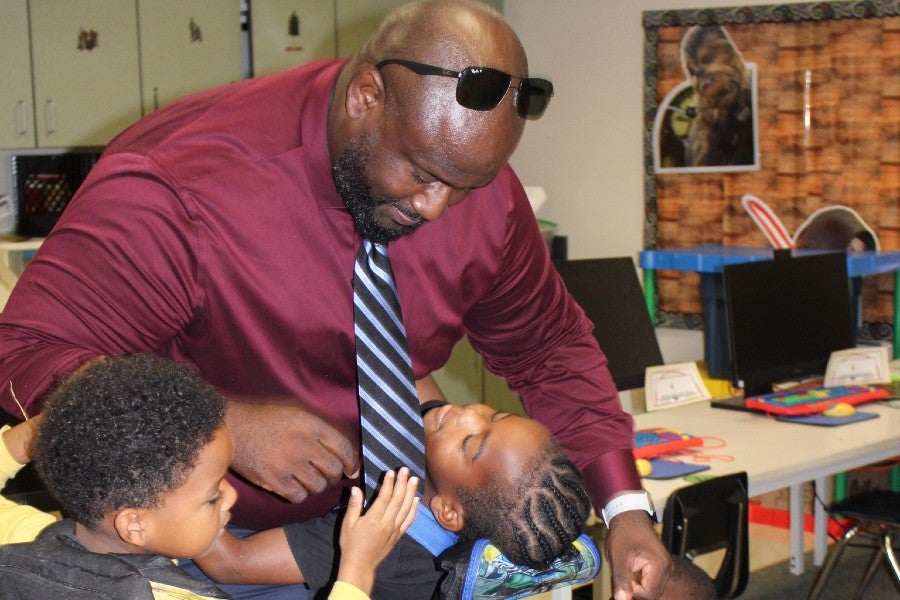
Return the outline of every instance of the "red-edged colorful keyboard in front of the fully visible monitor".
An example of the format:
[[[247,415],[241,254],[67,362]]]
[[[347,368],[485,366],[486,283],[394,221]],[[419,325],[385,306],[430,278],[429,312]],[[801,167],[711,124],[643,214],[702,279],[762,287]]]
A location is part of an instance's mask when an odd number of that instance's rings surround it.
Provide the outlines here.
[[[782,390],[761,396],[750,396],[744,400],[747,408],[761,410],[774,415],[809,415],[843,402],[860,404],[887,398],[890,393],[883,388],[868,385],[839,385],[834,387],[812,387]]]

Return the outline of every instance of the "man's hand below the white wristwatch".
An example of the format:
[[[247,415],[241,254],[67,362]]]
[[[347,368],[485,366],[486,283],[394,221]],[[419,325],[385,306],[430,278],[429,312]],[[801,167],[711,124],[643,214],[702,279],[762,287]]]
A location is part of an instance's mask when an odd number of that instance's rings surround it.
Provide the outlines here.
[[[606,558],[612,569],[615,600],[657,600],[673,568],[672,557],[642,510],[611,519]]]

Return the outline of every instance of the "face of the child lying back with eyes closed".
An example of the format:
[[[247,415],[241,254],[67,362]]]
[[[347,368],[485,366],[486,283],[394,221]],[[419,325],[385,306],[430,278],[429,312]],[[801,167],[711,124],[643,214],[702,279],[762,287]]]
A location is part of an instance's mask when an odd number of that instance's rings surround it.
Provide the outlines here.
[[[550,434],[527,417],[486,404],[448,404],[425,413],[425,462],[434,492],[457,497],[497,477],[512,480],[546,448]]]

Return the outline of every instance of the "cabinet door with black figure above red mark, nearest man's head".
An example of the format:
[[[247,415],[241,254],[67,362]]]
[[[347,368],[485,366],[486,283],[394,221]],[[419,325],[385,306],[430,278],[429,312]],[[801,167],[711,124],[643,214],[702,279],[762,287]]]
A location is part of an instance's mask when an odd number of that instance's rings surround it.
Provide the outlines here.
[[[268,75],[316,58],[333,58],[334,3],[250,0],[253,75]]]

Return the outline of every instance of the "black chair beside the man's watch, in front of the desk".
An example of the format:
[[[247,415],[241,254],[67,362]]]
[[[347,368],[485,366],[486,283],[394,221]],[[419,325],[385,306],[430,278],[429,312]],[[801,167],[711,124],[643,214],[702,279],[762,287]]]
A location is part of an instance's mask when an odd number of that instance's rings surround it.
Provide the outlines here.
[[[663,511],[663,544],[691,561],[724,550],[713,576],[718,598],[736,598],[750,576],[745,472],[675,490]]]

